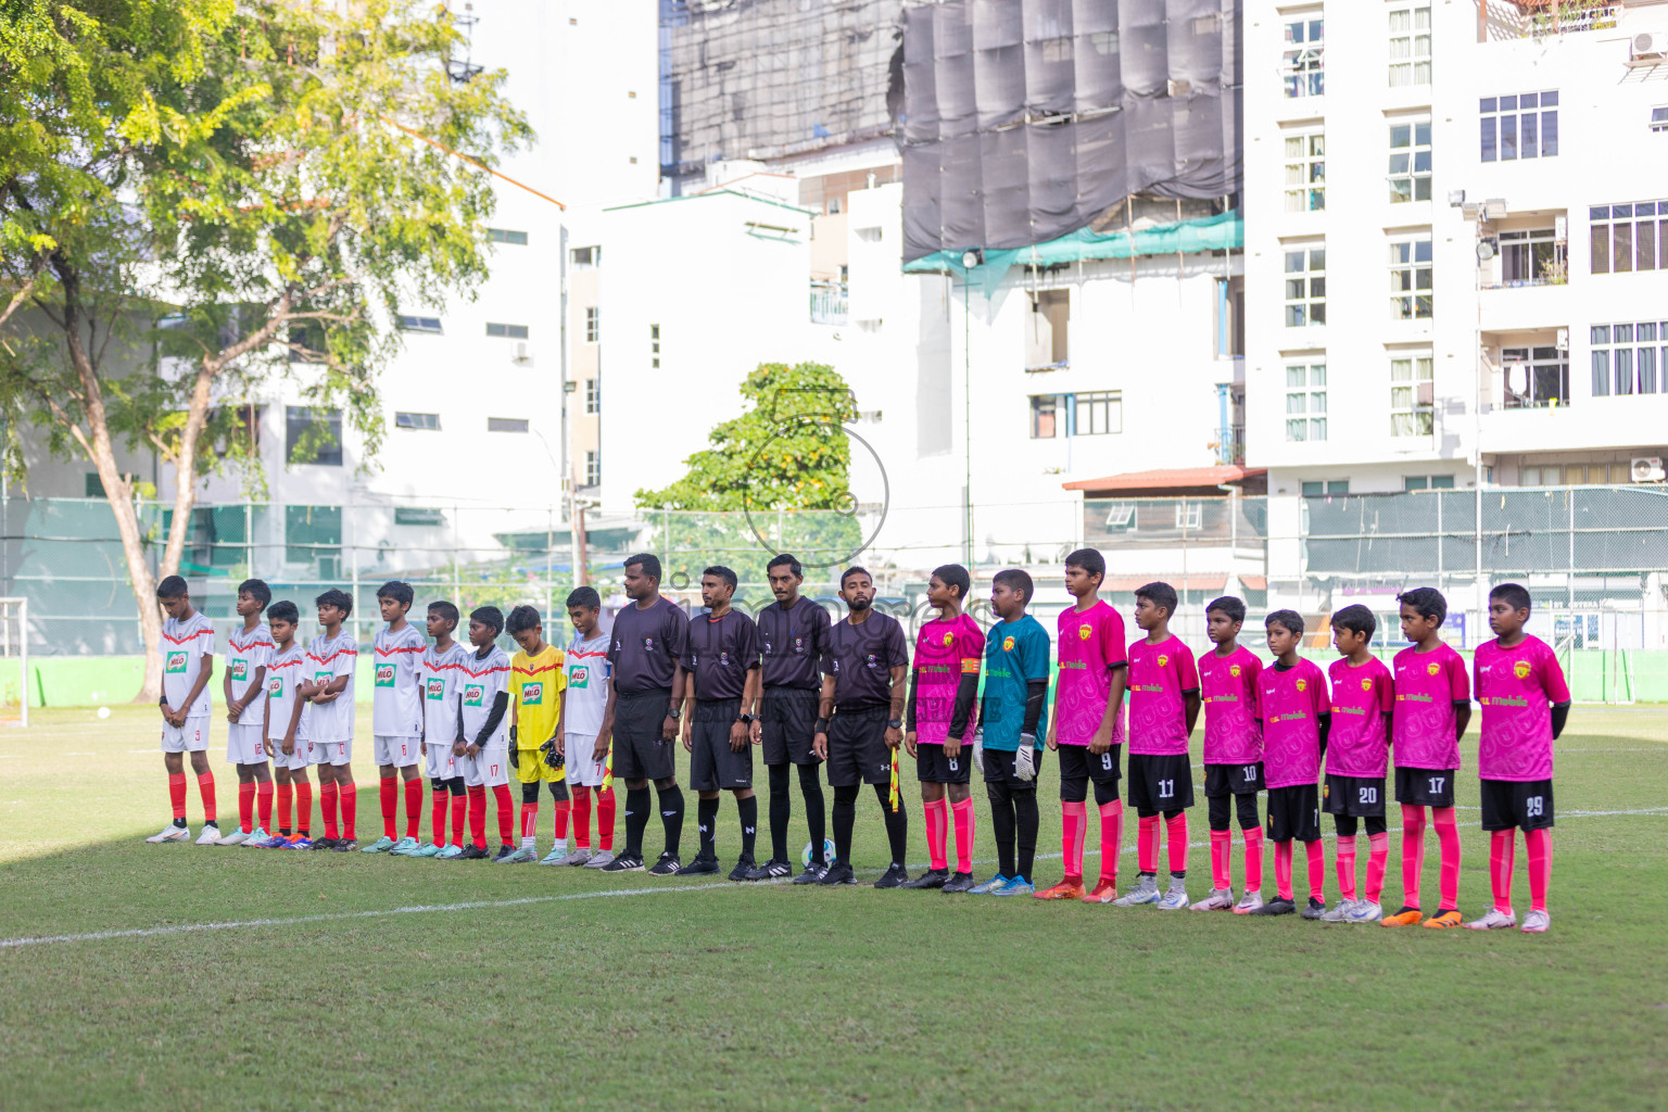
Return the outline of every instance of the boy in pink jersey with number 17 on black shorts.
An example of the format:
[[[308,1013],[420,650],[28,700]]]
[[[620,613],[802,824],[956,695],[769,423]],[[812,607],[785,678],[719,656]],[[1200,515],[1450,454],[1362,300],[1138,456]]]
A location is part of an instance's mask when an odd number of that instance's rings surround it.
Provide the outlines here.
[[[1443,644],[1448,600],[1434,587],[1396,595],[1401,635],[1411,649],[1396,654],[1396,714],[1389,745],[1396,754],[1396,802],[1401,804],[1401,910],[1386,927],[1416,927],[1424,915],[1419,880],[1424,874],[1424,809],[1441,847],[1441,897],[1426,927],[1460,925],[1460,824],[1454,820],[1454,772],[1460,739],[1471,724],[1471,677],[1465,660]]]

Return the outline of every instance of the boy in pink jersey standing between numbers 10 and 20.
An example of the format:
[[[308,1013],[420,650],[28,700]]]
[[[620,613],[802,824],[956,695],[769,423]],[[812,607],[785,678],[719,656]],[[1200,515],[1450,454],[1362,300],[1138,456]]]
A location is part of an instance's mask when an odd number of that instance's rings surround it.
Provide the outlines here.
[[[1309,905],[1304,919],[1326,910],[1326,854],[1321,849],[1321,755],[1331,729],[1331,699],[1326,677],[1313,662],[1298,655],[1303,615],[1274,610],[1264,619],[1268,650],[1274,664],[1263,669],[1256,685],[1258,719],[1263,722],[1263,775],[1268,777],[1268,840],[1274,844],[1274,899],[1253,915],[1289,915],[1298,910],[1291,895],[1291,844],[1303,842],[1309,855]]]

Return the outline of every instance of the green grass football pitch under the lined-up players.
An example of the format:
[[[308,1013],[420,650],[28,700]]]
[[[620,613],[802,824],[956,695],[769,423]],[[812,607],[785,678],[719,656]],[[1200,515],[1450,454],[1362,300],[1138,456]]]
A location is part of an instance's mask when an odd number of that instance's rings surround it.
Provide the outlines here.
[[[145,845],[168,814],[155,737],[135,707],[0,730],[0,1109],[1668,1104],[1665,710],[1575,709],[1541,937]],[[1475,739],[1465,754],[1475,769]],[[375,837],[375,769],[355,777]],[[1053,882],[1053,760],[1041,794]],[[1475,780],[1460,804],[1470,917],[1488,904]],[[1191,825],[1199,899],[1203,805]],[[734,827],[726,800],[726,865]],[[692,839],[691,814],[686,860]],[[854,857],[884,864],[872,797]],[[1426,865],[1434,894],[1434,839]],[[160,930],[82,937],[140,929]]]

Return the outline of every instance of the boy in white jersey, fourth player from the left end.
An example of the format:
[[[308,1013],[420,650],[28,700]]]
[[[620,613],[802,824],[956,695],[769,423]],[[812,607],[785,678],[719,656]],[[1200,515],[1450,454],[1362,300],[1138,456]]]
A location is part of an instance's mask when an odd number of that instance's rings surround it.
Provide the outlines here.
[[[319,809],[324,812],[324,837],[315,850],[345,854],[354,849],[354,665],[359,640],[342,624],[354,614],[354,597],[345,590],[327,590],[314,604],[324,632],[307,645],[300,695],[307,700],[307,740],[312,762],[319,767]],[[342,807],[342,837],[337,837],[335,810]]]

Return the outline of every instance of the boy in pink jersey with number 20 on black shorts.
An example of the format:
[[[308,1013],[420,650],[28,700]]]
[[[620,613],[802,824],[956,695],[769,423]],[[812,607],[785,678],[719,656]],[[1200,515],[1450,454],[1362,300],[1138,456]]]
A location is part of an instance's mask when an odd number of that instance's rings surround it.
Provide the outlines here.
[[[1338,904],[1321,922],[1366,924],[1384,915],[1389,834],[1384,824],[1384,774],[1389,770],[1389,715],[1394,680],[1373,655],[1378,619],[1361,604],[1333,615],[1333,647],[1341,654],[1326,670],[1333,687],[1333,730],[1326,739],[1326,785],[1321,805],[1338,829]],[[1366,899],[1356,899],[1354,837],[1366,820]]]

